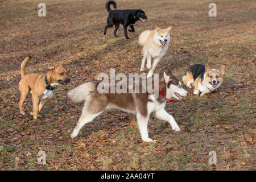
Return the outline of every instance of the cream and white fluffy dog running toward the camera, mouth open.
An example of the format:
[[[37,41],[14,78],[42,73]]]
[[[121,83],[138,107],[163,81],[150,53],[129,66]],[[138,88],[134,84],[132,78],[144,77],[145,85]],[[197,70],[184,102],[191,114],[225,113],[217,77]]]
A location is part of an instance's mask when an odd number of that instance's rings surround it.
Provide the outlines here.
[[[147,58],[147,69],[150,69],[147,77],[154,74],[156,65],[160,59],[166,54],[170,42],[170,34],[172,26],[166,29],[155,28],[155,30],[146,30],[139,35],[139,46],[142,46],[142,63],[141,71],[144,70],[145,61]],[[154,59],[151,68],[151,58]]]

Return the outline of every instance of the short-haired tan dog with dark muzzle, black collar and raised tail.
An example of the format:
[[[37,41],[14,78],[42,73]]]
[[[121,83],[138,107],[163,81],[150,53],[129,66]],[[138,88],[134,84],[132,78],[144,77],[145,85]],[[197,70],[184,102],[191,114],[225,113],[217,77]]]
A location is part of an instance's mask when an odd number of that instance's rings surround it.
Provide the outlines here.
[[[33,112],[30,115],[34,116],[34,119],[38,118],[38,113],[42,109],[46,101],[53,96],[53,89],[57,85],[67,85],[70,78],[67,76],[67,72],[59,65],[59,67],[51,66],[48,67],[51,71],[46,74],[31,73],[25,75],[26,65],[30,61],[31,55],[26,57],[21,64],[20,75],[22,79],[19,81],[20,90],[20,100],[18,107],[20,114],[25,114],[22,108],[22,104],[27,97],[28,91],[31,90],[32,102],[33,102]],[[42,100],[39,103],[39,97],[42,96]]]

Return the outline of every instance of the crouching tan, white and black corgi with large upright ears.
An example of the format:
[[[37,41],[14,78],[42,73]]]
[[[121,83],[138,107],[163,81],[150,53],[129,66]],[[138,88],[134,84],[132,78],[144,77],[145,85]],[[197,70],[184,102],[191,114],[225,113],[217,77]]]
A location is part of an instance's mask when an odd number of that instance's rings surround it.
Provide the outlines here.
[[[188,88],[192,88],[191,84],[195,86],[193,94],[199,94],[200,97],[206,93],[210,93],[213,90],[219,88],[223,81],[223,75],[225,72],[225,65],[217,69],[211,69],[209,65],[195,64],[187,69],[182,80]]]

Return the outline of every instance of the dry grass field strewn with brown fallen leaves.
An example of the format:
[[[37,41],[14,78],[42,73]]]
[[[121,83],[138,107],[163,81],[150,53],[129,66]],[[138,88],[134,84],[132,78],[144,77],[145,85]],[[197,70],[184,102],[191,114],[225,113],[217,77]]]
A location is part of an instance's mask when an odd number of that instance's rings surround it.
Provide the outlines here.
[[[216,0],[217,16],[209,17],[212,1],[116,0],[118,9],[143,9],[126,40],[109,28],[102,0],[0,0],[0,169],[2,170],[255,170],[255,1]],[[113,7],[112,7],[113,9]],[[197,97],[188,89],[182,101],[168,103],[181,128],[150,117],[154,143],[142,142],[134,115],[118,110],[101,114],[85,125],[77,138],[69,136],[82,103],[67,99],[68,90],[99,73],[136,73],[141,66],[138,36],[143,30],[172,25],[168,52],[156,72],[171,68],[181,80],[189,65],[226,65],[219,89]],[[59,86],[36,121],[29,114],[31,96],[20,115],[20,63],[32,55],[27,73],[46,73],[63,64],[72,82]],[[46,165],[38,152],[46,152]],[[217,164],[210,165],[209,151]],[[15,165],[16,158],[16,165]],[[19,160],[17,160],[19,159]]]

